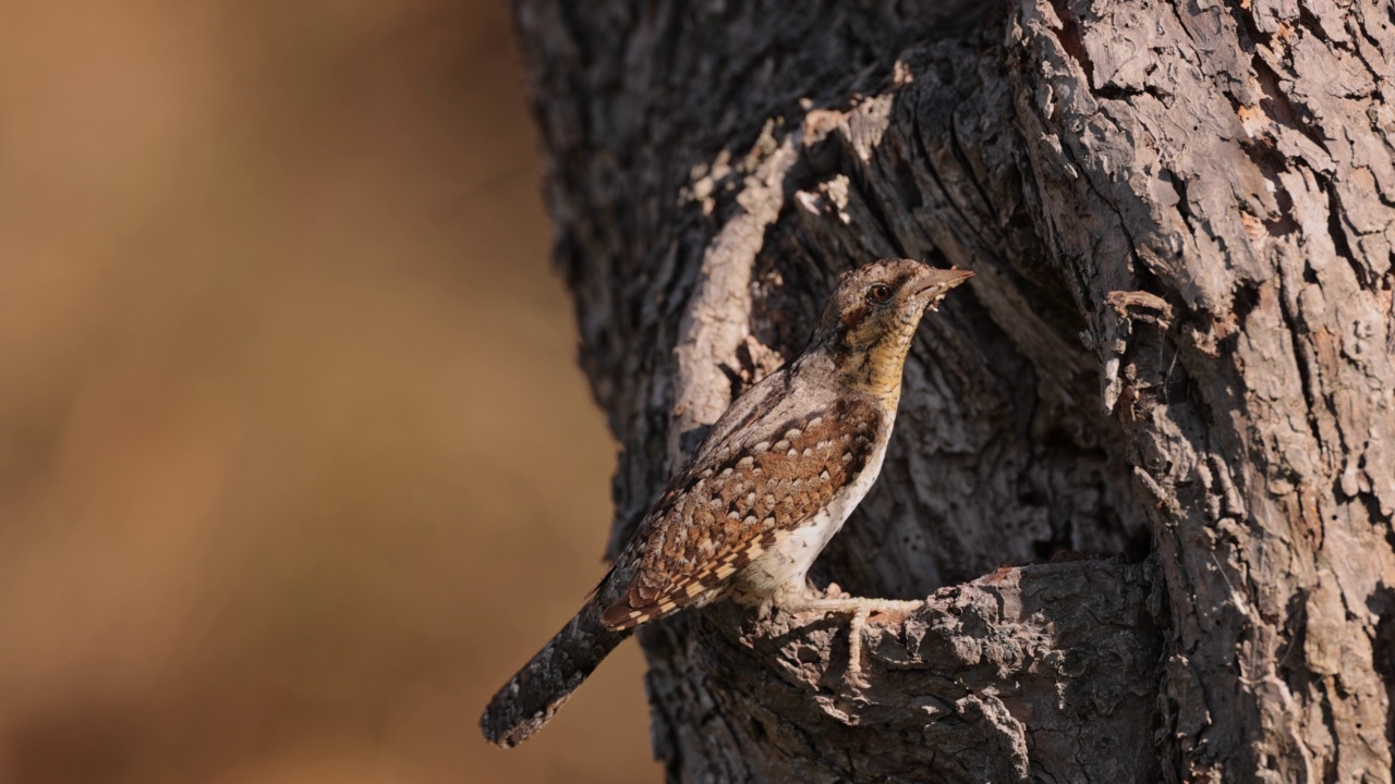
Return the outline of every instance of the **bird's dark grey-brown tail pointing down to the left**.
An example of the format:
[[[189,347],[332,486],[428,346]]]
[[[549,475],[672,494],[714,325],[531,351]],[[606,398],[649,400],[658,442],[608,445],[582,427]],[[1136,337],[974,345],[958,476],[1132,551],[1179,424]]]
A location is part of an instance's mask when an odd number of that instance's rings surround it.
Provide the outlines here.
[[[598,600],[591,597],[531,661],[504,685],[480,717],[488,742],[512,748],[552,720],[557,709],[582,685],[615,646],[631,635],[612,632],[601,622]]]

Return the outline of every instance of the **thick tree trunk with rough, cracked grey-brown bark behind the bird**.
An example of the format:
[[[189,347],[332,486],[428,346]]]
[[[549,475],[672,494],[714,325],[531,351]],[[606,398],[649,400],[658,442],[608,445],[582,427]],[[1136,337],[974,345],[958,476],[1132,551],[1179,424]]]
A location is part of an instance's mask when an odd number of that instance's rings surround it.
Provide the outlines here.
[[[1391,781],[1388,0],[518,0],[614,554],[836,273],[976,275],[815,568],[642,635],[682,781]],[[1025,565],[1036,564],[1036,565]]]

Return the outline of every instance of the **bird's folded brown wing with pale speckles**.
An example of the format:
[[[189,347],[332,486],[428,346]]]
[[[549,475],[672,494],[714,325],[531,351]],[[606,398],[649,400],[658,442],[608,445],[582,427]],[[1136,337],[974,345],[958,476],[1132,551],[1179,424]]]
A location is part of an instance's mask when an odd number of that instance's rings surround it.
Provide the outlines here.
[[[622,559],[636,576],[605,608],[610,629],[668,615],[725,587],[780,534],[827,506],[872,456],[880,410],[840,399],[805,417],[742,428],[707,445],[644,519]]]

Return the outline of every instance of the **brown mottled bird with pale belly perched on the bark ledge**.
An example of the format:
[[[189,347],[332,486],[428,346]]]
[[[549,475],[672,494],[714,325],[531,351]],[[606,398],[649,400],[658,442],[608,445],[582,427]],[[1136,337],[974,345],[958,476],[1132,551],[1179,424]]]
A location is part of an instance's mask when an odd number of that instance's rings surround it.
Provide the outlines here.
[[[805,575],[876,481],[922,315],[971,276],[904,258],[844,272],[805,349],[732,402],[580,611],[494,695],[484,738],[523,742],[638,626],[679,611],[851,612],[857,643],[868,612],[914,604],[824,594]]]

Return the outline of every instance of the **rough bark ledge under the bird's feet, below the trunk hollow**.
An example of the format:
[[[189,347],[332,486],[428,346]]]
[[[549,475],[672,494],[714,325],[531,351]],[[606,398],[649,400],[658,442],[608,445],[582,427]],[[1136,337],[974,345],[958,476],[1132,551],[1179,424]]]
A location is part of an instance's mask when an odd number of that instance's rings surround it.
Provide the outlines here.
[[[845,618],[688,619],[688,704],[657,730],[709,738],[682,780],[1151,781],[1161,593],[1148,565],[1004,568],[866,629]],[[665,658],[670,658],[665,656]],[[810,711],[809,706],[817,706]],[[678,717],[665,717],[678,721]],[[759,753],[724,753],[724,749]],[[914,773],[911,773],[914,771]]]

